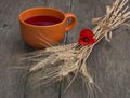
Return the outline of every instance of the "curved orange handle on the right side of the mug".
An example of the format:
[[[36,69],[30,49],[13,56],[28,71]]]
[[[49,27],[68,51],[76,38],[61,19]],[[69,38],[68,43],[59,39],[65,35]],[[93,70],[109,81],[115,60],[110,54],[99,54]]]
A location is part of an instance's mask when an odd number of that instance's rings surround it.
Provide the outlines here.
[[[66,13],[65,14],[66,20],[68,18],[72,18],[72,22],[67,25],[67,27],[65,28],[66,31],[73,29],[76,26],[76,16],[72,13]]]

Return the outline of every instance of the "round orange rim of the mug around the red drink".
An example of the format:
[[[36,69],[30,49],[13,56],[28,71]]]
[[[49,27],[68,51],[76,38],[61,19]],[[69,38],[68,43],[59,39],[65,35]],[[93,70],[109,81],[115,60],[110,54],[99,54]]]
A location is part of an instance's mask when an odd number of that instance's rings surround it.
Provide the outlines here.
[[[38,25],[28,24],[28,23],[26,23],[26,22],[24,22],[24,20],[22,19],[22,15],[23,15],[24,13],[26,13],[26,12],[28,12],[28,11],[31,11],[31,10],[42,10],[42,9],[43,9],[43,10],[44,10],[44,9],[47,9],[47,10],[54,10],[54,11],[61,13],[61,14],[64,16],[63,20],[60,22],[60,23],[57,23],[57,24],[54,24],[54,25],[38,26]],[[28,26],[32,26],[32,27],[52,27],[52,26],[57,26],[57,25],[63,24],[63,23],[66,20],[66,17],[65,17],[65,13],[62,12],[61,10],[58,10],[58,9],[47,8],[47,6],[46,6],[46,8],[44,8],[44,6],[38,6],[38,8],[30,8],[30,9],[27,9],[27,10],[22,11],[22,12],[20,13],[20,15],[18,15],[18,19],[20,19],[20,22],[22,22],[23,24],[28,25]]]

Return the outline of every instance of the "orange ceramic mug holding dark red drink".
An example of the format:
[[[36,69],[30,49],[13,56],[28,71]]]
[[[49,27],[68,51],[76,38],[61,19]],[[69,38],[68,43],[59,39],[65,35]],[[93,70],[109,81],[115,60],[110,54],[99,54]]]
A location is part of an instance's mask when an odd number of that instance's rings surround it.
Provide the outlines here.
[[[56,17],[61,22],[46,26],[26,23],[28,18],[37,16]],[[68,18],[72,18],[72,22],[67,25]],[[76,16],[74,14],[64,13],[52,8],[32,8],[20,14],[22,37],[28,45],[35,48],[43,48],[57,44],[63,39],[64,33],[73,29],[75,25]]]

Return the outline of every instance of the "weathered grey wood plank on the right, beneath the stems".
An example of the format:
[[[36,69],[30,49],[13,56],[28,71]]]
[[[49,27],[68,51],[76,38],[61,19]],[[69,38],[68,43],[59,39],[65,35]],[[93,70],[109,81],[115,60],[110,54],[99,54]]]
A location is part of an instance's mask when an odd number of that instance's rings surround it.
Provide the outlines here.
[[[93,28],[91,19],[105,14],[105,5],[113,0],[74,0],[72,12],[76,14],[77,27],[68,33],[67,43],[76,42],[82,28]],[[130,5],[130,2],[129,2]],[[130,28],[114,31],[112,42],[102,40],[88,59],[88,68],[104,94],[95,93],[94,98],[130,97]],[[72,85],[64,98],[87,98],[81,81]]]

